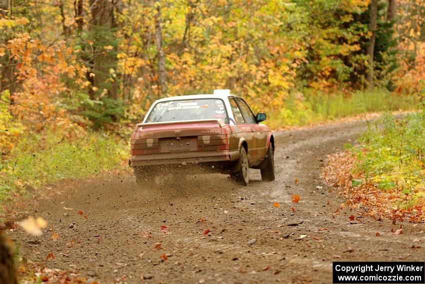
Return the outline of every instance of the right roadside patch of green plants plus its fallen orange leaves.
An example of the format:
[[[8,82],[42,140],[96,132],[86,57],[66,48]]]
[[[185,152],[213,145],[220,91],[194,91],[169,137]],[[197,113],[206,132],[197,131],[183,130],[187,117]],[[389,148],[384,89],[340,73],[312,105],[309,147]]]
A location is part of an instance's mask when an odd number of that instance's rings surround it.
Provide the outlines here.
[[[331,155],[323,172],[346,205],[378,218],[425,221],[425,109],[403,119],[386,114],[358,142]]]

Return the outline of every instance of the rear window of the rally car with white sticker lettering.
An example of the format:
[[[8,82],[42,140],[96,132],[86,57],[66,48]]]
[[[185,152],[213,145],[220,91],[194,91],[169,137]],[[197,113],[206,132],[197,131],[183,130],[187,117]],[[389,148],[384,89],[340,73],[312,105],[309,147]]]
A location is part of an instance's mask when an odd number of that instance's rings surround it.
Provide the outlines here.
[[[156,103],[145,122],[167,122],[198,119],[228,121],[221,99],[175,100]]]

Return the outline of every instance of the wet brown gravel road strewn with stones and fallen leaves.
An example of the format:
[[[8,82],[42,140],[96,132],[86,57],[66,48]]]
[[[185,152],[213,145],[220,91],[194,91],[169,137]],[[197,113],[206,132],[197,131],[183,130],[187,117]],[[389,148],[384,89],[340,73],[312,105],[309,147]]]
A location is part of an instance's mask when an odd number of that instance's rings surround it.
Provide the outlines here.
[[[388,220],[347,224],[347,210],[332,218],[343,199],[323,184],[321,166],[364,127],[275,133],[273,182],[258,170],[246,187],[225,175],[166,173],[153,189],[126,174],[71,182],[33,209],[49,222],[38,244],[21,230],[12,237],[27,259],[102,283],[331,283],[336,260],[423,261],[423,224],[405,222],[395,235],[399,224]]]

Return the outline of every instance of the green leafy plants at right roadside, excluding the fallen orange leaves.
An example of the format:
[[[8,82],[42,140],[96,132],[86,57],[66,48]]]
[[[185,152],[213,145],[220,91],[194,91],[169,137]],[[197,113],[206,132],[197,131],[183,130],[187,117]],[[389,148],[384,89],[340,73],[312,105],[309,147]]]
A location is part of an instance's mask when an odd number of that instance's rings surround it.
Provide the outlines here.
[[[425,206],[425,109],[405,119],[384,115],[359,142],[355,170],[379,189],[406,197],[393,209]]]

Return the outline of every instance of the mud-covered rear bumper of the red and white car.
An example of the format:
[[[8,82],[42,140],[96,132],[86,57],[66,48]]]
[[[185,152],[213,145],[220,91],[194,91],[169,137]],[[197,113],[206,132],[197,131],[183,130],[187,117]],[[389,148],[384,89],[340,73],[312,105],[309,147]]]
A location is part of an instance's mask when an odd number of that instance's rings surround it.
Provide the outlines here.
[[[131,156],[130,167],[172,164],[199,164],[214,162],[233,162],[239,159],[238,150],[175,152]]]

